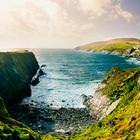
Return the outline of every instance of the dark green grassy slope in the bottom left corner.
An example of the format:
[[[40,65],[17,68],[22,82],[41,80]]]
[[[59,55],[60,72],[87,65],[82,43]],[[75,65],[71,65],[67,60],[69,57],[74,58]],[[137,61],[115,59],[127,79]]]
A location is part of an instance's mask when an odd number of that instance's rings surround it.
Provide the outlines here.
[[[10,118],[0,97],[0,140],[41,140],[39,134]]]

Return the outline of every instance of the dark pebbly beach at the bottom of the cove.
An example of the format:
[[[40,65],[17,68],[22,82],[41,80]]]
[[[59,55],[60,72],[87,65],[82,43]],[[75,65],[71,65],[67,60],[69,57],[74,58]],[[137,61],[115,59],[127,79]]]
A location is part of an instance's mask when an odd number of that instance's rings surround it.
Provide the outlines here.
[[[87,108],[38,108],[32,104],[12,107],[11,117],[23,122],[35,132],[41,134],[58,133],[70,135],[91,123],[95,118],[89,115]]]

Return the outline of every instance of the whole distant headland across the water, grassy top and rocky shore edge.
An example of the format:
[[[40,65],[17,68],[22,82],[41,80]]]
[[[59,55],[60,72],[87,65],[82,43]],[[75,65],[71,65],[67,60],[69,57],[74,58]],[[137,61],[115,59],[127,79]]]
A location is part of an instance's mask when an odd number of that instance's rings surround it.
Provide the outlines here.
[[[111,53],[129,57],[140,57],[140,40],[135,38],[119,38],[93,42],[76,48],[77,50]]]

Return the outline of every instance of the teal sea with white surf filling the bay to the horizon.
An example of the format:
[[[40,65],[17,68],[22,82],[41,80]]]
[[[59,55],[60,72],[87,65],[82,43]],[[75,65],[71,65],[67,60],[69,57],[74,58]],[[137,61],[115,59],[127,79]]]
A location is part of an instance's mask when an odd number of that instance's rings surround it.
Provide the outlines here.
[[[93,95],[112,67],[139,67],[135,58],[64,49],[33,50],[46,75],[32,86],[31,97],[22,104],[41,107],[83,108],[82,94]]]

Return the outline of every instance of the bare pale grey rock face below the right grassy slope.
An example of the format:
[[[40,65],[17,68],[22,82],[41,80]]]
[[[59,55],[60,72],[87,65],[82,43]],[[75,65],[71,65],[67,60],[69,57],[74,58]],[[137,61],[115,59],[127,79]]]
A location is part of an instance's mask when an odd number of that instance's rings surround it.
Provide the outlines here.
[[[90,115],[97,120],[101,120],[109,115],[117,107],[120,101],[118,99],[112,102],[106,95],[103,95],[101,89],[105,86],[105,84],[100,84],[94,96],[86,102]]]

